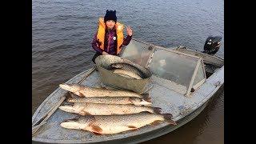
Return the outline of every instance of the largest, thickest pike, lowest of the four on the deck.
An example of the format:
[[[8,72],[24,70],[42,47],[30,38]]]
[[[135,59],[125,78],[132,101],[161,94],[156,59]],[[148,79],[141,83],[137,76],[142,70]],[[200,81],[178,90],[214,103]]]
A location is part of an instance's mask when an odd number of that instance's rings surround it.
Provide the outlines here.
[[[86,115],[66,120],[61,123],[61,126],[67,129],[87,130],[94,134],[117,134],[146,125],[157,125],[162,121],[176,125],[176,122],[170,118],[171,114],[148,112],[125,115]]]

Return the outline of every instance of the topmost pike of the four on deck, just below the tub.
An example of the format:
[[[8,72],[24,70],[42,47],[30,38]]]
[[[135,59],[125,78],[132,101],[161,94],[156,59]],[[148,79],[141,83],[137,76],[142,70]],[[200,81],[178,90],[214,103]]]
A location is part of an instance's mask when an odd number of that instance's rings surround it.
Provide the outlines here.
[[[107,90],[106,88],[66,83],[60,84],[59,86],[64,90],[77,94],[80,97],[137,97],[148,99],[148,94],[137,94],[128,90]]]

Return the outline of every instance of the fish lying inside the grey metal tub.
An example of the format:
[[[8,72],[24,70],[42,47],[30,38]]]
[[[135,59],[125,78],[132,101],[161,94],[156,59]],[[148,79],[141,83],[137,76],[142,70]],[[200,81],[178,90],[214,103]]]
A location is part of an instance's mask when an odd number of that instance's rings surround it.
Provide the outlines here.
[[[142,71],[138,70],[135,66],[132,66],[128,63],[113,63],[111,64],[111,66],[117,69],[128,70],[134,74],[138,74],[138,76],[141,78],[144,77]]]

